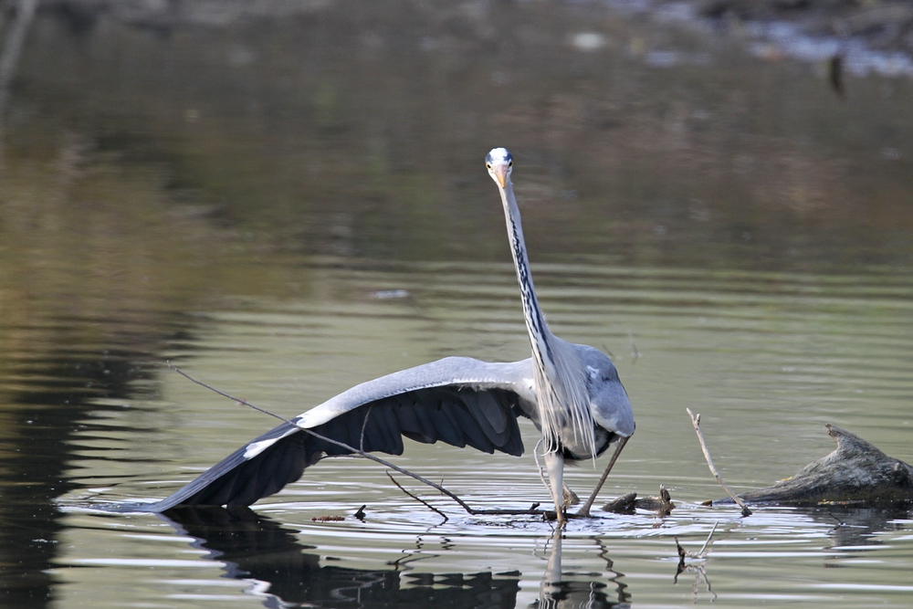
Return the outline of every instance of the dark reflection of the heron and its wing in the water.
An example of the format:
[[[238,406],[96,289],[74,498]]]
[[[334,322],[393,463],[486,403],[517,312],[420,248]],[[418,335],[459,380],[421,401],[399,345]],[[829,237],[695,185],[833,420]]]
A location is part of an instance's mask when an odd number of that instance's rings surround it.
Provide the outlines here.
[[[251,581],[248,592],[263,596],[265,606],[512,609],[518,602],[520,572],[433,573],[408,562],[390,563],[385,569],[340,566],[301,543],[294,530],[248,508],[179,508],[160,517],[194,538],[192,545],[207,551],[206,558],[222,563],[226,577]],[[554,541],[539,599],[531,606],[612,607],[626,602],[624,584],[614,582],[614,573],[562,582],[560,534]],[[589,604],[580,604],[582,598]]]

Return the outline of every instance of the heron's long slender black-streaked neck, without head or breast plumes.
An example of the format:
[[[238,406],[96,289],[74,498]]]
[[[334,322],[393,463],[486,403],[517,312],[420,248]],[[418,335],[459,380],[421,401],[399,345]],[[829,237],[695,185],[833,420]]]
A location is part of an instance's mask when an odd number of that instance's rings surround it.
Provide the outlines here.
[[[523,301],[523,313],[526,318],[526,329],[530,332],[530,344],[536,361],[539,362],[543,372],[545,363],[554,361],[551,355],[552,334],[545,324],[545,316],[539,308],[539,299],[536,298],[536,289],[532,285],[530,273],[530,259],[526,255],[526,242],[523,240],[523,224],[519,218],[517,198],[513,193],[513,184],[508,183],[501,189],[501,201],[504,204],[504,219],[507,221],[508,237],[510,240],[510,253],[514,258],[519,281],[519,296]]]

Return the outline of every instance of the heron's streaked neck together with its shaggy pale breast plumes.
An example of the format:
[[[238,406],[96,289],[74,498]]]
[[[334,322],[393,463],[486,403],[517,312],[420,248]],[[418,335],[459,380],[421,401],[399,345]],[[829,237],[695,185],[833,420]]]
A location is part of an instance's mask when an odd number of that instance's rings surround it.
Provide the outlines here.
[[[572,441],[575,447],[587,450],[595,458],[593,414],[590,412],[590,400],[586,391],[586,370],[572,344],[553,335],[545,323],[532,284],[530,260],[526,253],[513,184],[508,182],[501,191],[501,198],[526,327],[530,333],[537,407],[545,452],[558,452],[561,446]],[[570,431],[571,437],[565,431]]]

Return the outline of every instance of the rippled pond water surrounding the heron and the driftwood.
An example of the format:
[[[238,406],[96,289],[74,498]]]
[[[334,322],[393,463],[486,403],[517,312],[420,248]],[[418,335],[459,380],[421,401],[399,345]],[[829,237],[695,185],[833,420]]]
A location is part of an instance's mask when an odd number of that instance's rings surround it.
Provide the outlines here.
[[[908,606],[907,511],[700,507],[721,491],[685,413],[735,488],[824,456],[825,423],[913,459],[908,79],[849,74],[841,99],[815,64],[601,5],[188,6],[29,29],[0,173],[3,606]],[[556,542],[404,481],[442,522],[353,459],[253,512],[90,509],[272,425],[165,362],[297,415],[446,355],[527,357],[495,145],[552,329],[610,352],[635,404],[603,496],[664,484],[679,509]],[[397,463],[479,507],[546,496],[531,457]],[[673,538],[711,530],[676,580]]]

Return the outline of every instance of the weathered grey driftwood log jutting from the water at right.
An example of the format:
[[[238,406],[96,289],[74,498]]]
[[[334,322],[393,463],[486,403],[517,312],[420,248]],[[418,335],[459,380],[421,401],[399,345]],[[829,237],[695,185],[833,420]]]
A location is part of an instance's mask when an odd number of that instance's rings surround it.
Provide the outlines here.
[[[836,425],[824,425],[837,448],[772,487],[740,494],[747,503],[885,508],[913,504],[913,467]],[[731,499],[719,503],[730,503]],[[714,501],[718,503],[718,501]]]

